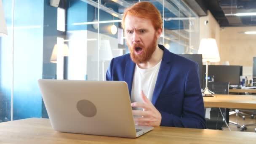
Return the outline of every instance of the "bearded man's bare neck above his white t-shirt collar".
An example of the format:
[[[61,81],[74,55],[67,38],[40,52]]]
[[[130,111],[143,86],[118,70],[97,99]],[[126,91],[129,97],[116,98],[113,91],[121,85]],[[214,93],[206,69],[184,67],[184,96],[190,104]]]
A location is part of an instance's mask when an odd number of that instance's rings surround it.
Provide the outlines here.
[[[141,69],[149,69],[151,67],[154,67],[156,64],[158,64],[161,59],[163,58],[163,50],[160,49],[157,45],[157,48],[155,49],[154,53],[152,54],[152,57],[149,61],[146,63],[137,64],[139,68]]]

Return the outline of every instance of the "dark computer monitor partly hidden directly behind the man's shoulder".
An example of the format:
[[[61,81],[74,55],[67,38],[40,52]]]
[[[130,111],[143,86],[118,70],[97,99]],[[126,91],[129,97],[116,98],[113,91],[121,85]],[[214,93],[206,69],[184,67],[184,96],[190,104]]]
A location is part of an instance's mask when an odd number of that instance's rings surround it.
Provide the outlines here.
[[[191,61],[195,61],[199,66],[199,78],[200,78],[200,86],[204,88],[204,79],[203,79],[203,61],[202,54],[178,54],[179,56],[183,56]]]

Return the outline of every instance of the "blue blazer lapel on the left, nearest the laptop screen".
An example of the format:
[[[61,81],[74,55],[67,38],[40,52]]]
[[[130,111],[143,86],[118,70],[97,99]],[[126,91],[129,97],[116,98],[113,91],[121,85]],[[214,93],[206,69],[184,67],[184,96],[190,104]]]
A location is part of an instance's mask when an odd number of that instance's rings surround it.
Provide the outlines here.
[[[124,80],[128,84],[130,97],[131,97],[131,88],[133,85],[134,68],[135,68],[135,63],[131,59],[129,59],[125,66]]]

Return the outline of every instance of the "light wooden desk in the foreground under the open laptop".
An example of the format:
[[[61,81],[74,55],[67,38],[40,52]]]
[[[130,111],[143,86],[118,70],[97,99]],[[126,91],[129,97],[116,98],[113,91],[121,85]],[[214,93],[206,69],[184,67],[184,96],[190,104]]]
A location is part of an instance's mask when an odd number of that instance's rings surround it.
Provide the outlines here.
[[[110,130],[111,131],[111,130]],[[193,128],[155,127],[136,139],[55,132],[50,121],[29,118],[0,123],[1,144],[256,144],[256,133]]]

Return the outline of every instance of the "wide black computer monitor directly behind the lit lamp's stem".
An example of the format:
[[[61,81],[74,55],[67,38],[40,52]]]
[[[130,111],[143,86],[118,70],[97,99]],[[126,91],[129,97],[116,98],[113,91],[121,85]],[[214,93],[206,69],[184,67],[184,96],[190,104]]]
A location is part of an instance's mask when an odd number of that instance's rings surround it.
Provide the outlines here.
[[[203,66],[205,77],[205,65]],[[214,82],[229,82],[230,85],[239,85],[243,75],[242,66],[209,65],[208,77],[214,77]]]

